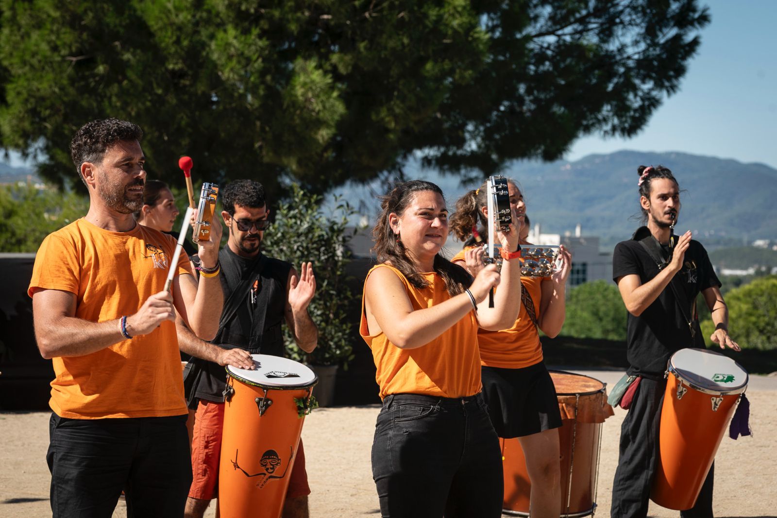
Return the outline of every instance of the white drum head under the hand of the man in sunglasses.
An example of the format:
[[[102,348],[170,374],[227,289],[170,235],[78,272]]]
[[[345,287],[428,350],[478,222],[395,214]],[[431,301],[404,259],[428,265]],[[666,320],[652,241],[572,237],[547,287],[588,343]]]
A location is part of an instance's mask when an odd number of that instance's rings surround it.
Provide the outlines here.
[[[310,387],[318,381],[308,366],[287,358],[270,355],[251,355],[254,370],[227,366],[227,373],[237,380],[259,387],[278,389]]]

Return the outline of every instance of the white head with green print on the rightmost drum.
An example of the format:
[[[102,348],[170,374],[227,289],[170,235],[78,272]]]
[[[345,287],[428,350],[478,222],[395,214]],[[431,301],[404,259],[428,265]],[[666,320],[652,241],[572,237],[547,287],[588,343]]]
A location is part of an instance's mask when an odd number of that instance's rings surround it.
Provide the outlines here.
[[[669,372],[693,387],[716,394],[739,394],[747,372],[728,356],[706,349],[681,349],[669,359]]]

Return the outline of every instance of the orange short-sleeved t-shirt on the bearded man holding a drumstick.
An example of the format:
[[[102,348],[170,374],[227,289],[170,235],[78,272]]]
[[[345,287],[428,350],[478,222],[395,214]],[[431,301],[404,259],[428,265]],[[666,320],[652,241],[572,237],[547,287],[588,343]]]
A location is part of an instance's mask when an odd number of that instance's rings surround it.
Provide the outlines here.
[[[78,219],[38,249],[27,293],[58,289],[76,296],[75,317],[92,322],[132,315],[165,288],[176,240],[146,226],[110,232]],[[177,275],[191,274],[181,254]],[[119,336],[117,326],[117,336]],[[55,357],[51,409],[64,418],[186,414],[176,324],[118,341],[88,355]]]

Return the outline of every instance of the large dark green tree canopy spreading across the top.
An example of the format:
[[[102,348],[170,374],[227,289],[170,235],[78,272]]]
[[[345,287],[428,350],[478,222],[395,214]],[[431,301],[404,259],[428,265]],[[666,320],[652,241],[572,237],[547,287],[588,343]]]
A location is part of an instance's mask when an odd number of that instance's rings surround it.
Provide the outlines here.
[[[0,145],[78,184],[75,130],[141,125],[151,172],[322,192],[398,171],[555,159],[634,135],[709,23],[698,0],[0,0]],[[81,187],[78,187],[81,188]]]

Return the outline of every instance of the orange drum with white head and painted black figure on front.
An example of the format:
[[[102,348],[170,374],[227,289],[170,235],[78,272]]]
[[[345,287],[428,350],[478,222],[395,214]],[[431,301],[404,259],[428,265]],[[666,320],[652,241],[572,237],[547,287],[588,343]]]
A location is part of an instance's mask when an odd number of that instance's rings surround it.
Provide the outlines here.
[[[299,362],[252,356],[256,370],[227,367],[218,470],[222,518],[280,516],[318,380]]]

